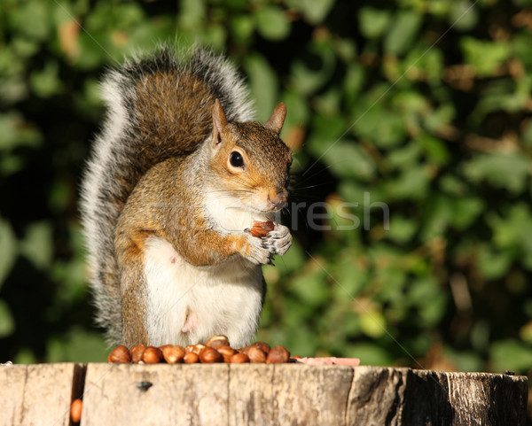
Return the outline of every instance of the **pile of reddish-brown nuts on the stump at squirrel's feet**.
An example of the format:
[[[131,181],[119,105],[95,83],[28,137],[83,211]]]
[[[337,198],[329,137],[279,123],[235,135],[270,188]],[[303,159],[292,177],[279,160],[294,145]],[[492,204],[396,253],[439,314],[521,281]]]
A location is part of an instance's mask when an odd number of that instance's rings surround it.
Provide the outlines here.
[[[207,340],[205,345],[162,345],[159,347],[135,345],[129,349],[124,345],[116,346],[109,354],[107,361],[116,363],[145,363],[157,364],[195,364],[197,362],[212,364],[215,362],[227,362],[231,364],[243,364],[246,362],[281,364],[294,362],[299,357],[290,357],[283,346],[274,346],[264,342],[255,342],[253,345],[241,349],[233,349],[225,336],[215,336]]]

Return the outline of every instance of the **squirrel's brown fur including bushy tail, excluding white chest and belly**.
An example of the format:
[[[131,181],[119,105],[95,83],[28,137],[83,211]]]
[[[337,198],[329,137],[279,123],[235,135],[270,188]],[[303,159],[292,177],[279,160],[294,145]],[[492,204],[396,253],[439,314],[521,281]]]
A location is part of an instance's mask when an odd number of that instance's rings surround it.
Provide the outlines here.
[[[163,48],[108,72],[103,87],[110,110],[82,190],[90,281],[109,341],[148,343],[148,239],[164,238],[196,266],[246,258],[243,230],[225,233],[205,211],[206,188],[261,208],[285,194],[292,154],[278,132],[286,108],[278,105],[264,126],[242,122],[253,117],[244,81],[205,50],[185,59]],[[221,145],[211,137],[217,99]],[[242,170],[229,166],[233,149],[246,159]]]

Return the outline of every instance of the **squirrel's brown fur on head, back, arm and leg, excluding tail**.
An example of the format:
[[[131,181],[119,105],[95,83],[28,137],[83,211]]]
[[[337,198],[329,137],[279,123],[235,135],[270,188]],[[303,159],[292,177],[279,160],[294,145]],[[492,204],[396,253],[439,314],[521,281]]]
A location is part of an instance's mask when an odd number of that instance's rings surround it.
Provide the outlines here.
[[[214,143],[192,154],[167,159],[152,167],[129,196],[117,225],[115,247],[124,297],[123,327],[127,345],[145,342],[142,324],[144,281],[142,252],[145,240],[159,236],[194,266],[213,266],[241,254],[251,246],[244,233],[223,234],[213,228],[203,208],[200,182],[214,183],[234,197],[254,190],[267,198],[285,191],[292,153],[278,135],[258,123],[231,123],[222,129],[223,143]],[[246,169],[231,172],[228,158],[236,147],[244,151]],[[210,157],[210,159],[209,159]],[[137,304],[137,305],[136,305]]]

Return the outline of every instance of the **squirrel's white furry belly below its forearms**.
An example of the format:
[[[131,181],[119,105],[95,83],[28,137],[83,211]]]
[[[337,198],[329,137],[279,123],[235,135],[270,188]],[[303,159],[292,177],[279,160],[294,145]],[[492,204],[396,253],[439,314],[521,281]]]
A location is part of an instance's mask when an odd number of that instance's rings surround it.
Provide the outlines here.
[[[150,345],[195,345],[223,334],[231,346],[248,345],[262,305],[262,272],[235,257],[194,267],[168,241],[152,237],[145,250],[146,331]]]

